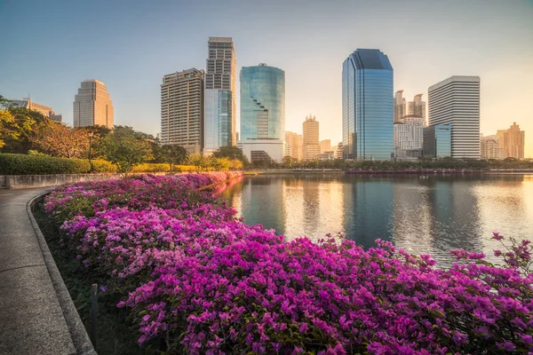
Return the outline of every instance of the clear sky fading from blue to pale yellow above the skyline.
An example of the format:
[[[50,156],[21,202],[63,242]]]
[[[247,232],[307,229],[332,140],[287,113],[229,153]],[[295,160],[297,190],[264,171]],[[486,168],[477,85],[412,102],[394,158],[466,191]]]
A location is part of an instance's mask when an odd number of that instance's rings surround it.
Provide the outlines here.
[[[320,139],[338,143],[342,63],[376,48],[408,100],[479,75],[481,133],[517,122],[533,157],[533,0],[0,0],[0,34],[0,95],[29,94],[68,123],[80,83],[98,79],[115,124],[159,132],[163,75],[205,68],[208,38],[231,36],[239,71],[285,71],[286,130],[314,114]]]

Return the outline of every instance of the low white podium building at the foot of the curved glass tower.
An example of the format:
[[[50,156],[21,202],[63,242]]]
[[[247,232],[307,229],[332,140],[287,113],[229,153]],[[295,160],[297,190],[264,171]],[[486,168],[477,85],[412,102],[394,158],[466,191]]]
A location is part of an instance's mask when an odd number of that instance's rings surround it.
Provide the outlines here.
[[[289,155],[288,146],[282,139],[246,139],[237,143],[251,163],[274,161],[283,162]]]

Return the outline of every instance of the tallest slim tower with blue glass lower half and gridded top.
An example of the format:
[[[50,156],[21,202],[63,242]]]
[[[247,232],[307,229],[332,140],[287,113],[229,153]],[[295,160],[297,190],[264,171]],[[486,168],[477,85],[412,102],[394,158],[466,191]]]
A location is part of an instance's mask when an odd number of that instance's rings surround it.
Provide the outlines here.
[[[237,58],[231,37],[209,37],[205,72],[203,150],[236,146]]]

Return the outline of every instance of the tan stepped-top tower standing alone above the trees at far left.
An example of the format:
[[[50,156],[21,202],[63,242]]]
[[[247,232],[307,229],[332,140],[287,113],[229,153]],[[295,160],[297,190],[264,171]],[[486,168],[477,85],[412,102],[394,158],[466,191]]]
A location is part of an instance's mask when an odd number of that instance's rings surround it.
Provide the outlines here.
[[[74,127],[114,127],[113,102],[106,85],[99,80],[84,80],[74,99]]]

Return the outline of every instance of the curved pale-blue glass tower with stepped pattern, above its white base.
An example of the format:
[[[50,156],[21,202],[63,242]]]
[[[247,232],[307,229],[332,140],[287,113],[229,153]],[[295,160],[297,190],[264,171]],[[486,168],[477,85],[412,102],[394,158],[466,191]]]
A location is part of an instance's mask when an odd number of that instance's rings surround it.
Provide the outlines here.
[[[241,71],[241,140],[285,138],[285,72],[260,64]]]

